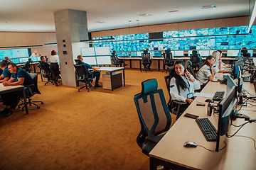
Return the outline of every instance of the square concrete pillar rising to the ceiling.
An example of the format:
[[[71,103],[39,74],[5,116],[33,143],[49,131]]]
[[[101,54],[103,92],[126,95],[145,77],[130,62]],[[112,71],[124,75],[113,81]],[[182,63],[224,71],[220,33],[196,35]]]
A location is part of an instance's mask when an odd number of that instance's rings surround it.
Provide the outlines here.
[[[62,84],[76,86],[74,59],[81,55],[80,47],[89,47],[86,11],[64,9],[54,13]],[[65,47],[64,47],[65,46]]]

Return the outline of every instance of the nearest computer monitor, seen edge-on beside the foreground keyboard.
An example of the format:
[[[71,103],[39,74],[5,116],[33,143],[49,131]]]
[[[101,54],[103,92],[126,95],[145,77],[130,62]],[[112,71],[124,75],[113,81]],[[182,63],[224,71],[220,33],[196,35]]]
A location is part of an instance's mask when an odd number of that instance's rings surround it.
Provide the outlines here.
[[[237,99],[237,86],[233,86],[228,94],[223,98],[222,101],[218,103],[219,108],[219,118],[218,118],[218,132],[217,132],[217,142],[215,151],[218,152],[220,146],[223,145],[224,135],[228,134],[228,130],[231,125],[231,116],[235,111],[238,103]]]

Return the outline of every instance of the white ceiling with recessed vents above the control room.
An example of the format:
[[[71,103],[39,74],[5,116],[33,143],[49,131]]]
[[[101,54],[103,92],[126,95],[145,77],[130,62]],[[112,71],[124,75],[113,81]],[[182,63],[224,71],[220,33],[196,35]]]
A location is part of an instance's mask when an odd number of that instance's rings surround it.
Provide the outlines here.
[[[249,16],[254,1],[251,0],[249,11],[250,0],[0,0],[0,31],[55,32],[53,13],[66,8],[87,11],[88,30],[92,32],[138,25]],[[208,5],[218,7],[198,8]],[[168,12],[174,10],[178,12]],[[144,13],[152,16],[137,16]]]

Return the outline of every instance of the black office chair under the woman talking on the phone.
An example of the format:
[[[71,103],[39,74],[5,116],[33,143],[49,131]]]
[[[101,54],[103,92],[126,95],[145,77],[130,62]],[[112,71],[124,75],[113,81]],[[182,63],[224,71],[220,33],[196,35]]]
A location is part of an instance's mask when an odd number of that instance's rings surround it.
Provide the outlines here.
[[[178,120],[178,118],[181,116],[181,107],[185,106],[187,103],[183,102],[183,101],[176,101],[176,100],[171,100],[171,94],[170,94],[170,81],[171,78],[174,77],[174,73],[175,72],[175,67],[168,67],[167,70],[169,71],[169,75],[164,77],[164,80],[166,82],[166,88],[169,94],[169,101],[167,103],[167,106],[169,108],[169,111],[171,111],[171,113],[173,113],[174,115],[176,115],[176,120]]]

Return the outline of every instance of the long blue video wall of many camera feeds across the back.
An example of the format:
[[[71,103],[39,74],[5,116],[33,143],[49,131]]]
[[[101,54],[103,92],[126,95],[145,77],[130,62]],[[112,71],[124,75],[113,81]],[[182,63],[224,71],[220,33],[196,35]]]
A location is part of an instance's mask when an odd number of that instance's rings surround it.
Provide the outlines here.
[[[117,52],[149,50],[223,50],[242,47],[256,49],[256,26],[247,34],[248,26],[165,31],[159,40],[149,39],[149,33],[116,35],[93,40],[94,47],[110,47]],[[104,39],[112,40],[104,40]]]

